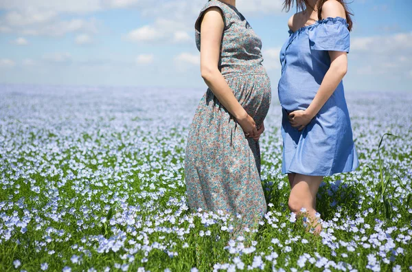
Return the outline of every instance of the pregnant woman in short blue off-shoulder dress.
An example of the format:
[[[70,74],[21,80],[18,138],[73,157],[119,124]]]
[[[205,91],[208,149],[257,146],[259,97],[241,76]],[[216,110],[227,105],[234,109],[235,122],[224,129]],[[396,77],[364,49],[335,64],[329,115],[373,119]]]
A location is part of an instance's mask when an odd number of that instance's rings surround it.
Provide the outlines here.
[[[290,210],[306,210],[311,231],[319,233],[316,195],[323,177],[358,168],[342,82],[352,20],[343,0],[284,2],[286,11],[293,5],[301,12],[290,17],[280,52],[282,172],[291,187]]]

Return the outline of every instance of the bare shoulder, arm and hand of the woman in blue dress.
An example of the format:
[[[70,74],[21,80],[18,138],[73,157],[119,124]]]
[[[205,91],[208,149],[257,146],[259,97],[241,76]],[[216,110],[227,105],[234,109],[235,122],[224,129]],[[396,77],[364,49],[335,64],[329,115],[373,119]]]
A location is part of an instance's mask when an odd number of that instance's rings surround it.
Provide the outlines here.
[[[322,8],[322,17],[336,16],[345,18],[343,6],[334,0],[326,1]],[[299,131],[319,113],[347,72],[347,53],[339,51],[329,51],[328,53],[330,56],[330,67],[325,73],[321,86],[308,106],[308,109],[305,111],[294,111],[289,115],[292,126],[299,128]]]

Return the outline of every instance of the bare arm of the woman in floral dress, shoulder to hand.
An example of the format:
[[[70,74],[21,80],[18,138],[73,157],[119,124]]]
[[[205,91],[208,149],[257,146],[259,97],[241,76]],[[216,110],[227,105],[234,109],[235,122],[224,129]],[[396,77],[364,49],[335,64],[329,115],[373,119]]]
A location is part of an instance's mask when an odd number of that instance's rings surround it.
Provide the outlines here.
[[[225,109],[236,118],[244,133],[253,137],[258,133],[253,118],[247,114],[218,69],[220,43],[224,30],[222,12],[209,8],[201,23],[201,74],[205,83]]]

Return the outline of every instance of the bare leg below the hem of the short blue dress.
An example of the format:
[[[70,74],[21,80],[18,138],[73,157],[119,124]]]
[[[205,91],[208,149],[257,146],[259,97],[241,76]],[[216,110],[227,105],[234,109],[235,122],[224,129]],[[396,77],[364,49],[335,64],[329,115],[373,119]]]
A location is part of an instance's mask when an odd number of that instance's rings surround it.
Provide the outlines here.
[[[308,217],[316,233],[321,231],[321,225],[317,224],[316,212],[316,195],[321,185],[323,177],[306,176],[304,174],[295,174],[292,183],[292,190],[289,196],[289,209],[295,214],[299,214],[302,207],[308,212]],[[312,225],[312,224],[311,224]]]

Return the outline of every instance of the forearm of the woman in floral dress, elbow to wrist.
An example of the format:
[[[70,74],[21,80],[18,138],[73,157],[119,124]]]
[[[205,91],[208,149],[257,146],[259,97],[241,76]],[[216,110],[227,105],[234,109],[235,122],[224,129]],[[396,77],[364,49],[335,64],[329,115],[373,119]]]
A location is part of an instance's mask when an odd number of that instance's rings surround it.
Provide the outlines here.
[[[211,89],[216,98],[218,98],[220,104],[222,104],[233,117],[240,119],[247,115],[247,112],[238,102],[233,91],[230,89],[225,78],[218,69],[211,69],[207,72],[203,72],[202,77],[209,89]]]

